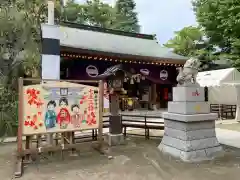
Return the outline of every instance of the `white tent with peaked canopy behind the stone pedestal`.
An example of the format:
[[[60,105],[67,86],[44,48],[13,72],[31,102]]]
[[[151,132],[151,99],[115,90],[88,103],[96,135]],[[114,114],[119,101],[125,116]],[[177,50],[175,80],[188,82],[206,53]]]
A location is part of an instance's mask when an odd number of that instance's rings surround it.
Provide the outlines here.
[[[237,104],[235,82],[240,81],[240,72],[235,68],[199,72],[197,82],[208,87],[211,104]]]

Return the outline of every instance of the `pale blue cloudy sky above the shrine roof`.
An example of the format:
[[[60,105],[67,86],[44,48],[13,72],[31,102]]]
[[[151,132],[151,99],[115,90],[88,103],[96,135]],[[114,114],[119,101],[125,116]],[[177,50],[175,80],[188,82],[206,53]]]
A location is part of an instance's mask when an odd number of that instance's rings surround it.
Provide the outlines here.
[[[102,1],[111,4],[115,2],[115,0]],[[174,31],[196,25],[191,1],[135,0],[142,33],[157,34],[159,43],[163,44],[174,36]]]

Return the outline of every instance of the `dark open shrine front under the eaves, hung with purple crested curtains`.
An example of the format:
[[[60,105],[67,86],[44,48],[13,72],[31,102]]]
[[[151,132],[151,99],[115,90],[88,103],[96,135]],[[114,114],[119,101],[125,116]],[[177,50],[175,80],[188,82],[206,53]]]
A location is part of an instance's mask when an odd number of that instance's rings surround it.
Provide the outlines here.
[[[94,80],[106,69],[119,64],[65,58],[63,57],[61,63],[61,79]],[[119,95],[121,111],[152,111],[167,108],[167,102],[171,101],[172,87],[175,85],[175,67],[125,63],[122,64],[122,68],[126,75],[122,79],[124,92]],[[161,79],[162,71],[168,71],[169,75],[165,74]],[[107,88],[108,82],[105,82],[105,90]],[[109,112],[109,100],[109,93],[104,91],[104,112]]]

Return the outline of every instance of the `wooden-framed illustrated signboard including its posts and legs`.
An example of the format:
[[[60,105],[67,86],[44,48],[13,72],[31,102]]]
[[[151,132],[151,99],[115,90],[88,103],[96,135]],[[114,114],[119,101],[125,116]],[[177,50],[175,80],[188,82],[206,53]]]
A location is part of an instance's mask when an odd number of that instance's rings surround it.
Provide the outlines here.
[[[46,82],[23,86],[24,81]],[[79,83],[95,83],[89,86]],[[103,82],[19,79],[18,148],[15,176],[22,175],[23,160],[43,152],[72,150],[76,153],[75,132],[98,131],[97,149],[102,150]],[[51,134],[56,143],[43,145]],[[80,133],[81,134],[81,133]],[[23,148],[23,136],[26,136]],[[32,146],[33,137],[37,146]]]

